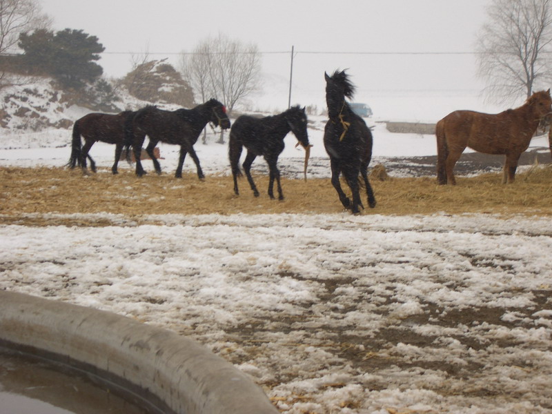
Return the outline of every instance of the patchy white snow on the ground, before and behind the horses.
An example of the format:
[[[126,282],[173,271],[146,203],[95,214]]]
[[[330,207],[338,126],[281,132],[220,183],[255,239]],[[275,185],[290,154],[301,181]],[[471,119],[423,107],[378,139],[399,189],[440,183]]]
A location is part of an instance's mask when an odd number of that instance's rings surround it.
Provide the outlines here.
[[[433,136],[374,135],[376,158],[435,155]],[[196,146],[204,171],[228,173],[210,139]],[[4,135],[0,166],[62,166],[69,141]],[[284,166],[303,157],[286,143]],[[100,167],[112,153],[92,148]],[[161,156],[172,173],[177,148]],[[0,226],[0,288],[193,337],[283,413],[552,413],[549,217],[86,217],[111,225]]]

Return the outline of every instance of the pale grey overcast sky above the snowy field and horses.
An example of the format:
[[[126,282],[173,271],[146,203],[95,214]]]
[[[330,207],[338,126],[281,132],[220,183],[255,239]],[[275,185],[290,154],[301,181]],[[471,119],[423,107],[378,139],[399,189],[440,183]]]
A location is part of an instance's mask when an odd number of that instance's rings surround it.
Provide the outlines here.
[[[337,68],[349,68],[359,95],[382,90],[480,90],[473,55],[358,53],[471,52],[488,3],[41,0],[43,12],[54,19],[54,30],[82,29],[99,38],[106,48],[99,63],[108,76],[121,77],[130,70],[130,52],[148,52],[152,58],[168,57],[175,63],[179,52],[221,33],[256,43],[264,52],[263,71],[273,81],[266,90],[289,79],[290,50],[295,46],[294,88],[304,99],[317,99],[324,88],[324,71]]]

